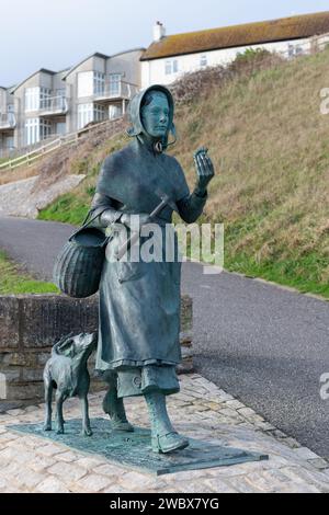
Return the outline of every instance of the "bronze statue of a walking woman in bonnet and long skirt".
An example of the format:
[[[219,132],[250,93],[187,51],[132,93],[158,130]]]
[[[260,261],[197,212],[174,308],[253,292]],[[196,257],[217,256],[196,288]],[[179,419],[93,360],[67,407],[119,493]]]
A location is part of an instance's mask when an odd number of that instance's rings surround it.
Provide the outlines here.
[[[214,168],[206,150],[200,149],[194,154],[197,183],[190,194],[179,162],[164,153],[170,134],[175,137],[173,99],[167,88],[140,91],[131,101],[129,117],[132,141],[105,159],[92,202],[93,216],[100,213],[98,226],[111,233],[100,283],[97,370],[110,386],[103,408],[113,427],[134,431],[123,399],[144,396],[152,450],[170,453],[189,445],[174,431],[166,408],[166,396],[180,390],[175,367],[181,362],[181,260],[174,252],[174,259],[166,261],[166,245],[162,261],[115,260],[115,253],[123,243],[120,228],[124,225],[131,230],[131,215],[139,216],[140,227],[157,224],[163,240],[172,203],[184,221],[194,222],[206,203]],[[161,201],[159,190],[172,203],[150,219]],[[147,239],[140,234],[139,248]]]

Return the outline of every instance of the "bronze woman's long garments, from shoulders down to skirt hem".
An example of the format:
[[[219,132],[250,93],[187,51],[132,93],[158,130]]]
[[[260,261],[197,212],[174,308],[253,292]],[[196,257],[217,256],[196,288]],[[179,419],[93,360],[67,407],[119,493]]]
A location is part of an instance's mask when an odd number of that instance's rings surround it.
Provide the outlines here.
[[[184,173],[173,157],[157,154],[134,138],[104,161],[92,207],[115,209],[118,216],[122,211],[150,214],[160,202],[159,193],[175,202],[188,222],[196,220],[206,202],[206,196],[190,194]],[[172,211],[167,206],[155,220],[161,227],[162,243]],[[181,262],[172,225],[167,226],[167,238],[168,234],[174,242],[173,261],[166,261],[163,244],[162,262],[118,262],[114,253],[123,241],[123,232],[112,231],[100,284],[97,369],[181,362]],[[140,249],[148,237],[140,238]]]

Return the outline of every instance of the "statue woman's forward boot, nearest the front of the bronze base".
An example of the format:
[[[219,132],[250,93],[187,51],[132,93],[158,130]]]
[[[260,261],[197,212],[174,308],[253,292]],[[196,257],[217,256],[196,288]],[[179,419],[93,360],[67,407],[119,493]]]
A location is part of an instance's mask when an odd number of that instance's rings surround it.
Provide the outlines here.
[[[189,446],[189,439],[174,431],[166,405],[166,396],[160,391],[145,393],[151,424],[154,453],[171,453]]]

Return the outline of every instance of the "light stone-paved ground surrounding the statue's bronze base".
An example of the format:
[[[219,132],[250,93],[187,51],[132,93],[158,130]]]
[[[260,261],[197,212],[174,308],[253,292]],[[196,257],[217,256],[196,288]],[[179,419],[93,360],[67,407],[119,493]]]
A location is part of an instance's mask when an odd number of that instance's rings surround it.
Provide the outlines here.
[[[203,377],[194,374],[180,380],[181,392],[169,398],[178,431],[197,439],[269,454],[270,460],[155,478],[46,438],[7,430],[7,425],[42,421],[41,404],[0,414],[0,492],[329,493],[329,462]],[[90,396],[91,417],[104,415],[103,394]],[[132,422],[146,427],[144,400],[129,399],[126,407]],[[65,414],[67,419],[80,417],[78,400],[66,402]]]

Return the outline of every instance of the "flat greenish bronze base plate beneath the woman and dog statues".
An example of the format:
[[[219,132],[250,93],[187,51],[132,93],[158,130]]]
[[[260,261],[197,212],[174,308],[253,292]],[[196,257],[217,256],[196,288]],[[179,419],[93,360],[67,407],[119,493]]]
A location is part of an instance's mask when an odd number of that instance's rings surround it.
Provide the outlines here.
[[[70,449],[102,456],[111,464],[139,472],[156,476],[198,470],[213,467],[227,467],[247,461],[260,461],[266,456],[247,453],[231,447],[220,447],[208,442],[189,438],[189,447],[167,455],[155,454],[151,449],[149,430],[135,427],[134,433],[112,431],[107,420],[92,419],[93,436],[81,435],[81,421],[69,420],[65,424],[65,435],[45,433],[42,424],[20,424],[8,426],[10,431],[32,434],[41,438],[63,444]]]

